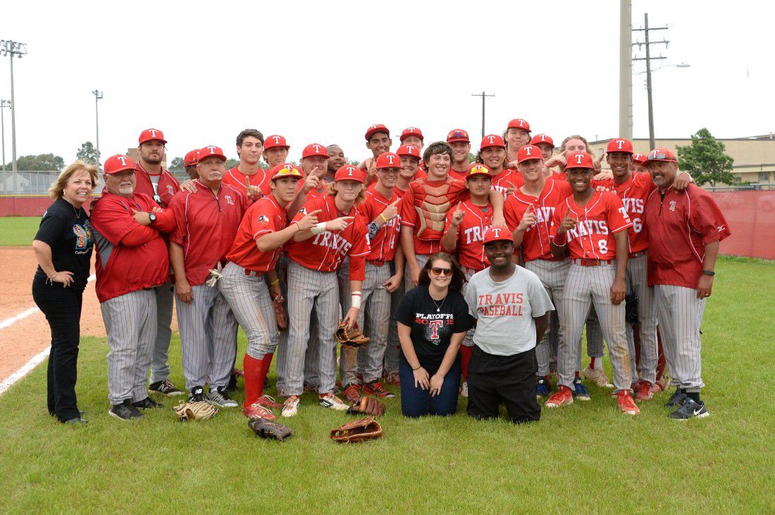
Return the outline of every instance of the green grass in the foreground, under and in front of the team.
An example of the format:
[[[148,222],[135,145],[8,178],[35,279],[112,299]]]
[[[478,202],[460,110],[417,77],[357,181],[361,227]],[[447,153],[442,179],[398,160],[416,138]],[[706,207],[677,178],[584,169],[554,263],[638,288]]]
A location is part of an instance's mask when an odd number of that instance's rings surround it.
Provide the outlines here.
[[[718,263],[703,326],[711,417],[685,423],[667,418],[668,393],[626,417],[590,386],[591,402],[525,426],[472,421],[463,399],[454,417],[408,420],[388,400],[384,438],[363,445],[330,441],[352,417],[312,394],[284,443],[255,438],[236,409],[183,424],[168,399],[130,424],[107,414],[105,339],[84,338],[87,427],[47,414],[45,363],[0,397],[0,512],[771,513],[773,290],[773,263]],[[171,363],[182,385],[177,336]]]

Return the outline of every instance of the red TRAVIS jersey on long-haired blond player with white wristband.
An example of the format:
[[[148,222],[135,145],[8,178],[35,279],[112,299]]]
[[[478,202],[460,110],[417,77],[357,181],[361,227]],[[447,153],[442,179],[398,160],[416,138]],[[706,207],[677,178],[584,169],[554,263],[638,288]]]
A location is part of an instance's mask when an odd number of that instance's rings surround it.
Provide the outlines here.
[[[288,247],[288,258],[310,270],[336,272],[343,259],[350,256],[350,279],[365,279],[366,256],[371,249],[363,216],[358,216],[356,208],[350,209],[350,213],[339,212],[334,197],[324,195],[308,200],[293,221],[299,221],[317,209],[321,210],[317,215],[318,221],[331,221],[343,216],[354,216],[355,219],[342,232],[324,231],[303,242],[294,242]]]

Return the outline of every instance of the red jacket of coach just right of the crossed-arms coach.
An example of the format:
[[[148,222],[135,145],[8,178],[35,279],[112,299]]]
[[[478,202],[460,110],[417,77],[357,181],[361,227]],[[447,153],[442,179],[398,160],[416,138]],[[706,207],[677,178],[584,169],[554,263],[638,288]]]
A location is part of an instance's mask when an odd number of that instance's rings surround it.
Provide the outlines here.
[[[202,284],[210,269],[223,264],[245,214],[245,197],[229,184],[221,184],[218,194],[196,180],[196,193],[181,191],[170,208],[177,228],[170,241],[183,247],[186,279],[191,286]]]

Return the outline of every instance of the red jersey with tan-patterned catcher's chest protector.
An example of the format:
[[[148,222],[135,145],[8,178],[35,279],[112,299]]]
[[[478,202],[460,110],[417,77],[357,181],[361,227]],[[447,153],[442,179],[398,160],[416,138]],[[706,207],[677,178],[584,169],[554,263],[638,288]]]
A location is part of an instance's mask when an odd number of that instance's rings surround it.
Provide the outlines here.
[[[401,225],[414,229],[415,254],[441,250],[446,212],[469,197],[466,184],[446,180],[413,180],[401,199]]]

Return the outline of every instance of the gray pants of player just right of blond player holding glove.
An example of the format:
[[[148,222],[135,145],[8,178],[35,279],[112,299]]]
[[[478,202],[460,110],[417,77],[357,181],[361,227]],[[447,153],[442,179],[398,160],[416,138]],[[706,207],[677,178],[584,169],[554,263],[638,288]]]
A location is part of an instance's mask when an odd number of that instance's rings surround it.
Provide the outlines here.
[[[390,279],[390,266],[374,266],[366,262],[366,279],[361,289],[360,310],[358,311],[358,327],[363,334],[371,338],[369,345],[358,349],[358,372],[365,383],[374,383],[382,376],[382,360],[387,348],[387,330],[391,319],[391,294],[382,284]],[[350,266],[339,269],[339,299],[342,312],[350,311]],[[355,370],[346,368],[346,359],[339,360],[339,375],[342,386],[357,382]]]

